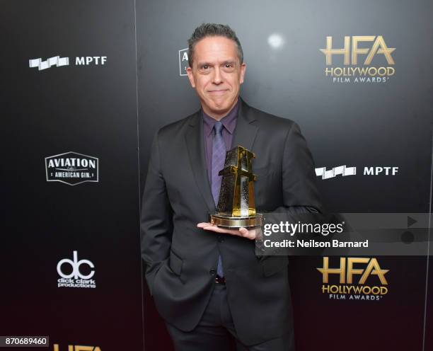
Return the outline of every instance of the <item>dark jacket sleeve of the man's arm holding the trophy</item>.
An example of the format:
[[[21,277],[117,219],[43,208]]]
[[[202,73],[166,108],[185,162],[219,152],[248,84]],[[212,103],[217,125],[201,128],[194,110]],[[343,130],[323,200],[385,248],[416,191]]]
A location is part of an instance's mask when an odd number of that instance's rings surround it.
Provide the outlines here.
[[[280,221],[291,223],[315,221],[323,212],[315,182],[313,157],[299,126],[293,123],[284,141],[282,157],[283,204],[272,212],[264,214],[265,224],[278,224]],[[272,235],[275,238],[279,237]],[[281,238],[284,235],[281,235]],[[262,250],[260,240],[256,242],[256,248]],[[258,256],[258,258],[264,257],[266,256]]]

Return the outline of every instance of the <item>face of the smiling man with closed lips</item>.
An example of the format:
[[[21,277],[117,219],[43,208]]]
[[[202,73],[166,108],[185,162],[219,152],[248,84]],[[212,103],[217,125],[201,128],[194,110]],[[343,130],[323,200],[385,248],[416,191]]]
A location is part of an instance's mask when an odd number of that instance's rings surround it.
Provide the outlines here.
[[[187,68],[204,113],[220,120],[236,105],[246,64],[239,61],[236,42],[206,37],[196,43],[192,67]]]

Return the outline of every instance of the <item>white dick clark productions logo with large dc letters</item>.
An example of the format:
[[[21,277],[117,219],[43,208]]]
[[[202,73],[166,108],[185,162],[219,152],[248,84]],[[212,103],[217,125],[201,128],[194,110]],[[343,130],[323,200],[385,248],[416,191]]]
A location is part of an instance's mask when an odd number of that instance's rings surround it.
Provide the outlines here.
[[[81,271],[81,266],[87,266],[88,274]],[[64,271],[65,266],[69,266],[67,272]],[[96,282],[91,277],[95,275],[95,265],[90,260],[78,260],[77,251],[73,252],[73,259],[63,258],[57,263],[57,273],[61,278],[57,280],[57,287],[83,287],[95,288]]]

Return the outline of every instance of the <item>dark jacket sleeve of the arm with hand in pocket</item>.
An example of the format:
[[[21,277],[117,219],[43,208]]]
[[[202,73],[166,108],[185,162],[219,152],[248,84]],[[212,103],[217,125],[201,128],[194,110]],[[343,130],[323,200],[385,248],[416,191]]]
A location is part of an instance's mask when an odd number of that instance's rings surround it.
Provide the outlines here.
[[[173,209],[161,173],[158,132],[151,146],[151,157],[142,198],[141,248],[146,263],[146,281],[153,294],[154,279],[170,255]]]

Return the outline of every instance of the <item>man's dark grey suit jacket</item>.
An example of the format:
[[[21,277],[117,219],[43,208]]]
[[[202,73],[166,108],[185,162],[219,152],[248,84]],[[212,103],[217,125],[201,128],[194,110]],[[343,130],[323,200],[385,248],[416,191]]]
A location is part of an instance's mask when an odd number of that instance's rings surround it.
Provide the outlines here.
[[[321,210],[311,153],[296,123],[242,102],[236,145],[256,154],[255,203],[258,212],[270,212],[267,221],[272,222],[272,212],[294,207]],[[220,253],[241,342],[277,338],[293,327],[287,256],[257,257],[255,241],[198,229],[215,210],[199,111],[161,128],[152,144],[142,205],[149,289],[168,323],[192,330],[212,293]]]

